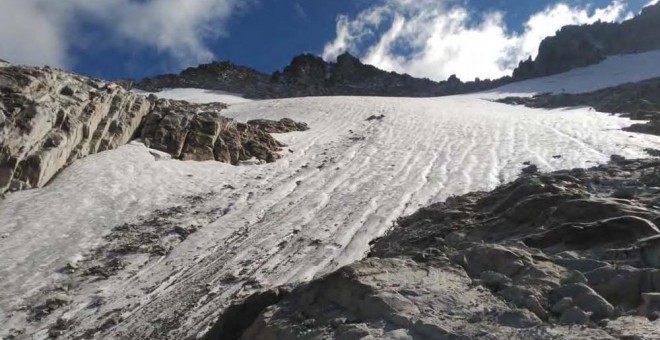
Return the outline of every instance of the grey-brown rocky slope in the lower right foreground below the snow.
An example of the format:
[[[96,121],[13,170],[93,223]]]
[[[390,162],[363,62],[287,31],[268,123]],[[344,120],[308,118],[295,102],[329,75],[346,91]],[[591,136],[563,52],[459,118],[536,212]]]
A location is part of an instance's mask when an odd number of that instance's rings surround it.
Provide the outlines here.
[[[368,258],[208,339],[658,339],[660,161],[537,173],[402,218]]]

